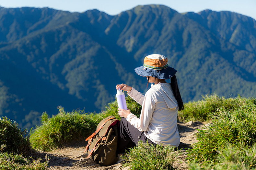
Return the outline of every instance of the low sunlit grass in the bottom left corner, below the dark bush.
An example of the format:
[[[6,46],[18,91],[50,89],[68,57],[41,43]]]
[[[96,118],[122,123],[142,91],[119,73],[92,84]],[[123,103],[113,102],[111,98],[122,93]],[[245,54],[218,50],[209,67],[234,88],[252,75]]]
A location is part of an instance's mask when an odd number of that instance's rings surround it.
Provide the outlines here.
[[[0,153],[0,169],[1,170],[46,170],[47,161],[40,162],[41,159],[29,160],[21,155],[13,155]]]

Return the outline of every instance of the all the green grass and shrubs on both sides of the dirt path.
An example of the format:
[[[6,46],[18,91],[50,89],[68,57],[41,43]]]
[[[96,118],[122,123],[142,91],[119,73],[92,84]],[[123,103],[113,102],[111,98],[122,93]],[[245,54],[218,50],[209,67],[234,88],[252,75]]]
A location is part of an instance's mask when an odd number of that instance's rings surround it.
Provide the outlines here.
[[[131,112],[139,116],[141,106],[130,97],[126,99]],[[196,112],[194,112],[195,106],[198,106]],[[179,113],[180,120],[211,122],[210,126],[199,130],[197,134],[199,142],[193,145],[194,148],[186,151],[189,169],[224,170],[231,167],[232,169],[255,169],[255,108],[256,99],[254,98],[225,98],[217,95],[205,96],[201,101],[185,103],[184,113],[186,114]],[[199,117],[198,113],[203,116]],[[86,114],[79,110],[66,112],[63,107],[59,107],[57,115],[52,117],[47,113],[41,115],[42,125],[33,130],[30,138],[24,137],[24,133],[27,132],[21,131],[16,123],[2,117],[0,135],[4,138],[0,140],[0,166],[6,169],[22,167],[24,170],[29,168],[44,170],[47,162],[40,163],[40,160],[30,162],[19,156],[19,154],[29,155],[35,152],[31,148],[30,141],[35,149],[42,150],[54,149],[76,140],[84,141],[88,134],[95,131],[99,121],[109,115],[118,117],[116,102],[109,103],[99,114]],[[19,140],[10,140],[10,135]],[[11,147],[13,145],[16,146]],[[19,153],[16,152],[17,146],[23,148]],[[179,152],[174,152],[174,149],[162,146],[151,147],[140,143],[124,155],[124,166],[130,166],[134,170],[175,169],[172,164],[175,157],[179,156]],[[15,164],[7,163],[10,158],[15,161]]]

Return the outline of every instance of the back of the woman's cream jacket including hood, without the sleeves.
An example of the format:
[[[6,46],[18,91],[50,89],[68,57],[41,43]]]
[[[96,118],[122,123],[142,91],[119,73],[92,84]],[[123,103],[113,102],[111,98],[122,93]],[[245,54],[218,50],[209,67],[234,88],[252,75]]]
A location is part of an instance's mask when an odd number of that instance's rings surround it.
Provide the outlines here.
[[[156,103],[146,136],[163,145],[178,146],[180,144],[177,128],[178,104],[170,83],[153,85],[147,93],[150,93],[150,97],[156,98]]]

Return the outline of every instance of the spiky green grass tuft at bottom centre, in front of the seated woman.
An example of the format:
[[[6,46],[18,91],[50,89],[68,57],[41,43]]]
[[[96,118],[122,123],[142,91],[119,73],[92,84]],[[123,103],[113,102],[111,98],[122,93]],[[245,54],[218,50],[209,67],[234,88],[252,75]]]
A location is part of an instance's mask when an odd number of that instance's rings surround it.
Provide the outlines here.
[[[177,156],[172,146],[150,145],[139,142],[122,157],[124,166],[133,170],[175,170],[174,158]]]

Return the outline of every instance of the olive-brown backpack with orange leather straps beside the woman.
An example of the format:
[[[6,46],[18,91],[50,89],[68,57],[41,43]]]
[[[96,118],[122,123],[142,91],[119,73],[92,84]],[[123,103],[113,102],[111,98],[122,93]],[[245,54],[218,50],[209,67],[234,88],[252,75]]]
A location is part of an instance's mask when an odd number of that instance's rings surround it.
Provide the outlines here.
[[[87,152],[87,158],[104,166],[118,161],[116,149],[119,123],[114,116],[108,116],[99,122],[97,130],[86,139],[89,140],[84,152]]]

